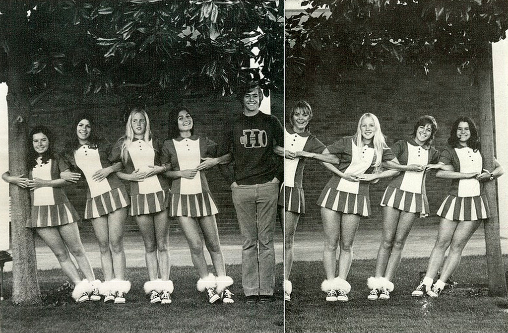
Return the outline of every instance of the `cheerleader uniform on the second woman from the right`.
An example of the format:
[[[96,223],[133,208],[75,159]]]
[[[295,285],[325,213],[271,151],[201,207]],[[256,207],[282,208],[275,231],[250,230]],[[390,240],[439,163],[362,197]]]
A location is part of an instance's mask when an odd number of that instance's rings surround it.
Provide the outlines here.
[[[392,146],[392,152],[401,165],[435,164],[439,153],[434,147],[425,148],[414,139],[399,140]],[[424,172],[402,171],[390,181],[380,205],[389,206],[408,213],[429,216],[429,201],[425,192]]]

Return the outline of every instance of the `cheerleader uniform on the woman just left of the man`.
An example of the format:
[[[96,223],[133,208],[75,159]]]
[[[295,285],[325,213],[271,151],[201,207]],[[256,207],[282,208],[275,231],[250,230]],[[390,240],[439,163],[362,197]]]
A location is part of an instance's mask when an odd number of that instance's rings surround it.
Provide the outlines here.
[[[195,169],[201,159],[215,157],[217,144],[197,135],[178,137],[164,141],[161,162],[171,164],[171,169]],[[168,200],[170,216],[202,217],[218,213],[204,171],[198,171],[193,179],[179,177],[173,180]]]

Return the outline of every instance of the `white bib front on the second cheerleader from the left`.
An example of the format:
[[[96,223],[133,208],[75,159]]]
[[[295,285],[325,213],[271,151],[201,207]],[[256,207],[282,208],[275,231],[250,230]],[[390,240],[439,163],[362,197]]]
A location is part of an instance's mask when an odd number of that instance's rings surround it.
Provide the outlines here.
[[[90,189],[90,197],[94,198],[111,191],[111,187],[106,179],[95,181],[92,178],[94,173],[102,169],[99,149],[90,149],[89,145],[84,144],[76,150],[74,159],[76,160],[76,165],[83,171],[86,178],[86,183]]]

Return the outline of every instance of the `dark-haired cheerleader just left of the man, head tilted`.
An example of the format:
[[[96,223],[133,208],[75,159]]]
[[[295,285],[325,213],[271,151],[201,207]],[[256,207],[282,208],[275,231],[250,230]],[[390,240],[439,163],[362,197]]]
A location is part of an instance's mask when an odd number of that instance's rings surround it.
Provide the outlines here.
[[[171,114],[169,134],[170,139],[164,142],[161,154],[161,162],[171,165],[165,174],[173,178],[168,214],[177,217],[187,239],[190,256],[199,275],[197,289],[201,292],[206,290],[210,304],[220,299],[224,303],[233,303],[233,293],[228,289],[233,279],[226,275],[215,220],[218,209],[203,171],[229,162],[231,155],[213,158],[217,145],[206,137],[194,135],[194,120],[187,109]],[[200,230],[217,276],[208,271]]]

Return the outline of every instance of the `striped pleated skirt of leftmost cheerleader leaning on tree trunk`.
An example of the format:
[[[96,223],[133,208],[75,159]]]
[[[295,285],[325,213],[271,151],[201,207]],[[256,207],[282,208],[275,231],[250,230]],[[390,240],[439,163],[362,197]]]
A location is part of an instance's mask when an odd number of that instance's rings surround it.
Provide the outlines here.
[[[79,214],[69,202],[47,206],[32,206],[27,228],[58,227],[80,220]]]

